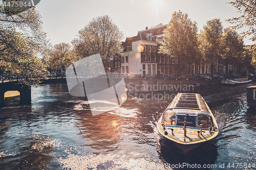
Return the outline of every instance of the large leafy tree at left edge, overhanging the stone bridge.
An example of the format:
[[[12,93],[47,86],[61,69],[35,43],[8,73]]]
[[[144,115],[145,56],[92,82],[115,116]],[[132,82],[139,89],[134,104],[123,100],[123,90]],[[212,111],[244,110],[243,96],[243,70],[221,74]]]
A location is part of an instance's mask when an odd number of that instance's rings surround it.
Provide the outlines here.
[[[46,77],[46,66],[37,55],[48,45],[40,15],[34,9],[9,15],[0,8],[0,63],[4,71],[19,75],[19,82],[37,85]]]

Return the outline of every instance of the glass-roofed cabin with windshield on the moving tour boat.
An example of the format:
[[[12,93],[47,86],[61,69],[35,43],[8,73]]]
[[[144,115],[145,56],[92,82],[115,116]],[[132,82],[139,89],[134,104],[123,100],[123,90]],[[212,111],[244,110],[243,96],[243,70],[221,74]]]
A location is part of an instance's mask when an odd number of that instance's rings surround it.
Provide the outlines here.
[[[162,124],[167,126],[214,127],[212,117],[200,94],[178,93],[163,113]]]

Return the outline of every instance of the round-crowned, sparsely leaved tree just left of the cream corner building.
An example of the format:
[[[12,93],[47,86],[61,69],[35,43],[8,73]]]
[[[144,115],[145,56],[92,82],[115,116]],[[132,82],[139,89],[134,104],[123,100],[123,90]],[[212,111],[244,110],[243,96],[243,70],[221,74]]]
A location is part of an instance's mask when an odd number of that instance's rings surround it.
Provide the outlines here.
[[[123,33],[108,15],[93,18],[84,29],[78,32],[78,38],[72,41],[80,58],[100,53],[103,60],[118,56],[123,51],[121,39]]]

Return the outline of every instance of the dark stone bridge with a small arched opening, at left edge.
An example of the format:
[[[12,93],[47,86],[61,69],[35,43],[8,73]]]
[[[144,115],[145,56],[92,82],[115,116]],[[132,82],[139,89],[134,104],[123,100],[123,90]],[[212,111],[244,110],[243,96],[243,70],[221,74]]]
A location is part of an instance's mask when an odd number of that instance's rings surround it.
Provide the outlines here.
[[[19,84],[18,81],[0,83],[0,107],[5,106],[5,92],[15,91],[19,92],[20,104],[31,103],[31,86]]]

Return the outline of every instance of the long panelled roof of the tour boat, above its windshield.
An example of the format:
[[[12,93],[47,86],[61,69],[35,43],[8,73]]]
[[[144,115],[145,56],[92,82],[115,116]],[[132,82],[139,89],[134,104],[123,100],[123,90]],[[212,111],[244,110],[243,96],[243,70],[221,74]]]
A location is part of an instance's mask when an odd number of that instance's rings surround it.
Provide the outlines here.
[[[192,109],[210,113],[204,99],[198,93],[178,93],[167,109]]]

